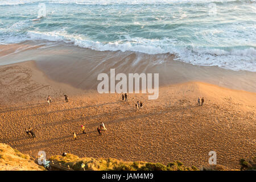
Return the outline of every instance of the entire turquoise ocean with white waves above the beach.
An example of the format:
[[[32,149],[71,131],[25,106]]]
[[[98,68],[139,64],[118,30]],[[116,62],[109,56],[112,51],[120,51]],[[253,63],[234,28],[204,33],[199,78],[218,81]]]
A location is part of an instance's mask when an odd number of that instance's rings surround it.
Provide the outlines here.
[[[256,1],[0,1],[0,44],[48,40],[256,72]]]

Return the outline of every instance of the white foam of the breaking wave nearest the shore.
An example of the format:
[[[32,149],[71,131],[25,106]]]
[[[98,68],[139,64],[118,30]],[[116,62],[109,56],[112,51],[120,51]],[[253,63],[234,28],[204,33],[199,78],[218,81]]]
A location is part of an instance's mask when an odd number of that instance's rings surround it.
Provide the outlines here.
[[[176,40],[164,38],[143,39],[130,38],[126,36],[125,41],[101,43],[92,40],[82,39],[80,36],[68,35],[67,32],[28,32],[31,40],[44,39],[54,42],[63,41],[72,43],[82,48],[90,48],[97,51],[133,51],[147,54],[171,53],[176,55],[175,60],[184,61],[195,65],[216,65],[234,71],[246,70],[256,72],[256,49],[249,48],[230,48],[224,50],[220,48],[204,47],[184,47],[175,46]],[[160,61],[160,60],[159,60]]]

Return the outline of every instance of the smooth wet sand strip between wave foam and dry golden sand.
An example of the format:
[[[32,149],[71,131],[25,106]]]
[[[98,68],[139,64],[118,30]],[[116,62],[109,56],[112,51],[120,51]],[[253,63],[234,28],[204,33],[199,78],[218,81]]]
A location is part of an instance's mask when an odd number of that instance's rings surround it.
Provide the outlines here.
[[[200,66],[174,61],[174,55],[147,55],[136,52],[94,51],[61,44],[43,48],[47,42],[24,42],[0,45],[0,64],[35,61],[50,80],[82,90],[96,90],[97,76],[117,73],[159,73],[159,86],[201,81],[230,89],[256,92],[256,72],[231,71],[217,66]],[[18,48],[17,48],[18,47]],[[19,52],[16,51],[19,50]],[[16,52],[15,52],[16,51]]]

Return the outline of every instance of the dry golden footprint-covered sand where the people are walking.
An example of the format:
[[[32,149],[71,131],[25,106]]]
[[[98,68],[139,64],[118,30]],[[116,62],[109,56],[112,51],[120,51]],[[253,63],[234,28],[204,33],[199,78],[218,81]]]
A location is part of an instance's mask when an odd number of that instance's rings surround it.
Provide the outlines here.
[[[203,106],[196,105],[198,97],[205,98]],[[209,151],[216,151],[217,164],[234,169],[241,158],[256,154],[253,92],[190,81],[161,86],[158,100],[129,94],[123,102],[120,94],[50,80],[27,61],[0,67],[0,99],[0,143],[34,156],[43,150],[48,157],[71,152],[163,164],[180,160],[200,167],[208,165]],[[137,100],[143,109],[135,109]],[[100,122],[108,129],[102,136]],[[26,127],[33,128],[35,139],[27,137]]]

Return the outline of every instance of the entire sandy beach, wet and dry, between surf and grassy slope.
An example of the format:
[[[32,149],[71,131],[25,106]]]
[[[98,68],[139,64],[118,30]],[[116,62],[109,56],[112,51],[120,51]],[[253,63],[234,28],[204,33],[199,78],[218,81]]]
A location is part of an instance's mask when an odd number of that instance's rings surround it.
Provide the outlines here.
[[[230,169],[256,154],[255,72],[200,67],[174,61],[173,55],[39,47],[0,46],[0,143],[34,156],[43,150],[47,156],[180,160],[196,167],[207,166],[209,151],[216,151],[217,164]],[[164,63],[154,64],[155,59]],[[97,75],[110,68],[159,73],[159,98],[129,94],[124,102],[121,94],[99,94]],[[196,105],[198,97],[205,98],[203,106]],[[143,109],[135,109],[137,101]],[[108,129],[102,136],[100,122]],[[33,128],[35,139],[27,137],[26,127]]]

